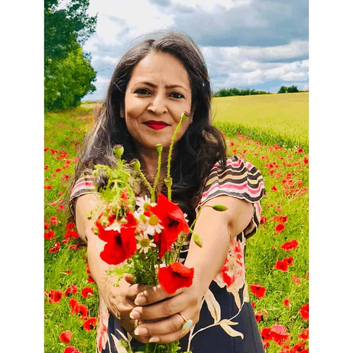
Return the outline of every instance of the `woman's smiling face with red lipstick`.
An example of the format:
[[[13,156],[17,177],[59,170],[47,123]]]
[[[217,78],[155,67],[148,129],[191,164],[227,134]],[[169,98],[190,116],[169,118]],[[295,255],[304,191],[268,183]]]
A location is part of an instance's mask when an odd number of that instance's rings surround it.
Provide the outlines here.
[[[133,68],[125,93],[125,122],[138,149],[169,147],[181,114],[191,109],[191,86],[183,64],[173,55],[152,52]],[[185,133],[185,119],[175,142]]]

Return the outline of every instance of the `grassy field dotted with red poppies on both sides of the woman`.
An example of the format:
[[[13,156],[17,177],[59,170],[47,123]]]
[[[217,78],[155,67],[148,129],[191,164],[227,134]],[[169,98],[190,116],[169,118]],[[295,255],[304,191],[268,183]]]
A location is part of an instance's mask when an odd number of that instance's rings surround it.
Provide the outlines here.
[[[65,198],[92,108],[44,118],[44,352],[95,352],[98,293],[78,245]],[[229,129],[228,125],[228,129]],[[258,232],[247,241],[250,299],[266,352],[308,352],[309,155],[297,139],[283,147],[268,134],[224,132],[228,155],[261,170],[267,189]],[[265,136],[264,140],[261,136]],[[288,140],[288,136],[286,137]]]

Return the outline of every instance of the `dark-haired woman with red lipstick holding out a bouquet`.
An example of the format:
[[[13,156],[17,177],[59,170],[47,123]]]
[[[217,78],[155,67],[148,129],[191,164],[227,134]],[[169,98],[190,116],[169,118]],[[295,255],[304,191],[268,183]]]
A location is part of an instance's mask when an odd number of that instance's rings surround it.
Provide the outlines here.
[[[181,352],[264,352],[244,264],[246,238],[259,224],[263,178],[250,163],[226,157],[222,134],[210,124],[211,87],[201,51],[189,37],[175,32],[134,46],[116,66],[103,107],[85,141],[70,198],[99,292],[97,351],[123,352],[121,340],[131,335],[134,351],[140,342],[180,339]],[[105,243],[92,233],[87,219],[97,204],[90,167],[112,164],[112,147],[122,144],[122,158],[138,158],[152,181],[155,146],[160,143],[165,154],[157,192],[166,195],[166,154],[183,112],[189,119],[175,139],[172,200],[187,214],[189,224],[201,205],[223,204],[228,210],[204,208],[195,225],[203,247],[190,240],[185,244],[181,261],[195,268],[191,287],[172,295],[160,286],[144,290],[132,285],[133,277],[127,274],[115,287],[114,278],[106,275],[109,266],[99,256]],[[104,180],[98,184],[104,185]],[[145,194],[142,186],[140,195]],[[184,319],[193,321],[188,330],[182,329]]]

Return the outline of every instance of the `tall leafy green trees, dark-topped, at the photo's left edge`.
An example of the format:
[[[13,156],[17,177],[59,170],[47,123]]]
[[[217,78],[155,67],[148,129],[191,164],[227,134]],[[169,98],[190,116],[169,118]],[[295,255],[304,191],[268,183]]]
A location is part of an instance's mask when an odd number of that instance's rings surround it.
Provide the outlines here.
[[[82,45],[94,33],[97,15],[86,13],[89,0],[71,0],[59,9],[59,0],[44,0],[44,109],[73,108],[96,90],[96,71]]]

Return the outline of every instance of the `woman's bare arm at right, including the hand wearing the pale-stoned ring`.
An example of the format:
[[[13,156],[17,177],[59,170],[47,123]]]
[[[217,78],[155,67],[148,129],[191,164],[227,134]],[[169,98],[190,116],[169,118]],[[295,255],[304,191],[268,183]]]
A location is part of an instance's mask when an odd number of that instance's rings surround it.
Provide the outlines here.
[[[135,304],[143,306],[133,309],[130,317],[140,320],[166,319],[142,323],[138,325],[136,334],[153,336],[153,342],[172,342],[188,332],[181,330],[184,321],[178,313],[192,319],[194,324],[198,322],[202,297],[222,268],[231,239],[246,228],[253,214],[251,203],[231,196],[217,196],[205,203],[211,206],[215,204],[225,205],[228,210],[220,212],[205,207],[201,211],[195,233],[202,238],[203,246],[200,248],[191,241],[185,260],[187,267],[195,269],[192,286],[181,288],[172,295],[164,292],[160,286],[140,293]],[[169,299],[161,302],[165,298]]]

